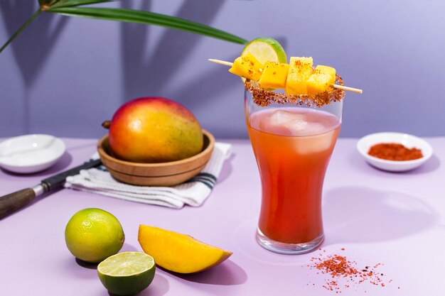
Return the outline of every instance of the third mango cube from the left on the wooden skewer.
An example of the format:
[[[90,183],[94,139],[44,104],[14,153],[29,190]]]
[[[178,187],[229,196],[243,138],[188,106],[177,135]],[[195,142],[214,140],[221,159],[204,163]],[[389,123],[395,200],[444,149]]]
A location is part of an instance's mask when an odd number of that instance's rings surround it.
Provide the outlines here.
[[[311,77],[312,57],[291,57],[286,80],[286,94],[307,94],[306,80]]]

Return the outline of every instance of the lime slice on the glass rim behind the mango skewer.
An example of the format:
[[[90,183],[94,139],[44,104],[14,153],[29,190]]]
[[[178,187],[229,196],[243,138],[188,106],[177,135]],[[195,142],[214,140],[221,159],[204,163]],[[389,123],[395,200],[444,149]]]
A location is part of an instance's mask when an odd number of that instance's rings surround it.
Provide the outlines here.
[[[262,64],[265,62],[287,62],[286,52],[277,40],[259,37],[247,43],[241,55],[252,53]]]

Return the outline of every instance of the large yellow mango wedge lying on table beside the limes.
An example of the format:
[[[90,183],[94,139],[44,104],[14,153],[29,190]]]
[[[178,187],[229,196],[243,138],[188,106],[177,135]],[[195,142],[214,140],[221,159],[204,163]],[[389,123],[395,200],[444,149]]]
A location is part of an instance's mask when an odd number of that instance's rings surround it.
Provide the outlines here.
[[[186,234],[139,225],[138,240],[157,265],[176,273],[198,273],[225,261],[232,252],[210,246]]]

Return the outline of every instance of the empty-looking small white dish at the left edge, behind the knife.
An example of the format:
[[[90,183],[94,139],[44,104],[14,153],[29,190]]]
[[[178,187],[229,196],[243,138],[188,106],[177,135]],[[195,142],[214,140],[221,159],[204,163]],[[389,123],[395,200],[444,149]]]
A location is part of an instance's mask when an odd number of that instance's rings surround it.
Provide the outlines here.
[[[21,174],[40,172],[55,164],[65,149],[65,143],[60,138],[50,135],[9,138],[0,143],[0,166]]]

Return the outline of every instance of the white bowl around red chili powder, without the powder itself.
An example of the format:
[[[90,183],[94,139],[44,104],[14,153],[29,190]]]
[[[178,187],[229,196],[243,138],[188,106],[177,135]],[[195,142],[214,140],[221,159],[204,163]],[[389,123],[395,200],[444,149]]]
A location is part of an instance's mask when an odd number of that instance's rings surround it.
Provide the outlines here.
[[[415,160],[384,160],[376,158],[369,155],[368,151],[371,146],[377,143],[400,143],[407,148],[418,148],[422,150],[424,156]],[[372,133],[360,138],[357,143],[357,149],[370,165],[375,168],[380,168],[380,170],[389,170],[392,172],[403,172],[417,168],[425,163],[433,154],[433,148],[431,148],[427,141],[407,133]]]

